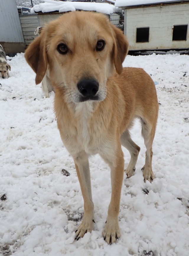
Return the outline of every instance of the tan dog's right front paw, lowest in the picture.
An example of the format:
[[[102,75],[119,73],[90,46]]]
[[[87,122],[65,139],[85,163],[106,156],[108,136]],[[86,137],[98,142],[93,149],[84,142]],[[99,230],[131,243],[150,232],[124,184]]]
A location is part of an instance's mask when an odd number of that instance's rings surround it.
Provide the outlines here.
[[[102,236],[108,244],[115,243],[121,236],[118,220],[107,221]]]

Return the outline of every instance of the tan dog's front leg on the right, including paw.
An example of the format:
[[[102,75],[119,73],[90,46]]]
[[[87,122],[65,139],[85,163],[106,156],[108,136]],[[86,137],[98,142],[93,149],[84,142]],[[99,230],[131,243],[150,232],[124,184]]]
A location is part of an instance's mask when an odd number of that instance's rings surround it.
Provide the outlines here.
[[[111,201],[108,207],[107,220],[105,228],[102,232],[102,236],[108,244],[112,244],[121,236],[118,215],[120,209],[120,197],[121,197],[121,187],[123,183],[123,173],[124,173],[124,158],[123,152],[121,150],[121,145],[117,152],[115,152],[114,158],[108,158],[107,156],[102,157],[109,164],[111,169],[111,185],[112,194]]]

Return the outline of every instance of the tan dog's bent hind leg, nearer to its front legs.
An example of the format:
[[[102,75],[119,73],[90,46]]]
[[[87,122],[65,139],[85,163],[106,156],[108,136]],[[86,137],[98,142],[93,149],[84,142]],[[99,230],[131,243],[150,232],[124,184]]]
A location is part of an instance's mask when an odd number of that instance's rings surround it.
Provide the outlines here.
[[[128,129],[121,135],[120,137],[121,145],[125,147],[130,155],[131,159],[128,164],[128,167],[126,168],[125,172],[127,174],[127,178],[130,178],[133,176],[134,171],[136,170],[136,161],[138,159],[140,147],[134,143],[134,141],[131,139],[130,133]]]

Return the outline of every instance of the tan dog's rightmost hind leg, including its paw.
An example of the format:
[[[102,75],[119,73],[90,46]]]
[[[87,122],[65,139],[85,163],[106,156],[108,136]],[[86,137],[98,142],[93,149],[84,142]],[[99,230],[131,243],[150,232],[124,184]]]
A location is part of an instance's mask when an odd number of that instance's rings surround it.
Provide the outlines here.
[[[146,120],[141,118],[141,124],[142,124],[142,136],[144,138],[144,144],[146,146],[146,159],[145,164],[142,168],[143,171],[143,177],[144,182],[148,180],[151,182],[154,179],[154,173],[152,171],[152,143],[154,140],[155,135],[155,129],[156,129],[156,122],[153,125],[150,125]]]

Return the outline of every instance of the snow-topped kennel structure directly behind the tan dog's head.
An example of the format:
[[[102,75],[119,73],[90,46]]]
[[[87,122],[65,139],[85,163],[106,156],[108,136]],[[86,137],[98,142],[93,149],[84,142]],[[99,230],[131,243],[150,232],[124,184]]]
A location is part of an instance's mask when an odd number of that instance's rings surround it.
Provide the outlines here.
[[[18,0],[17,0],[18,1]],[[20,0],[22,1],[22,0]],[[106,0],[108,1],[108,0]],[[37,27],[43,27],[45,24],[69,11],[90,10],[106,13],[113,25],[119,26],[120,17],[123,16],[123,11],[114,7],[114,0],[109,0],[109,3],[97,2],[79,2],[79,1],[51,1],[50,3],[40,3],[31,8],[30,13],[20,13],[20,23],[26,45],[29,45],[38,35],[34,35],[34,30]]]

